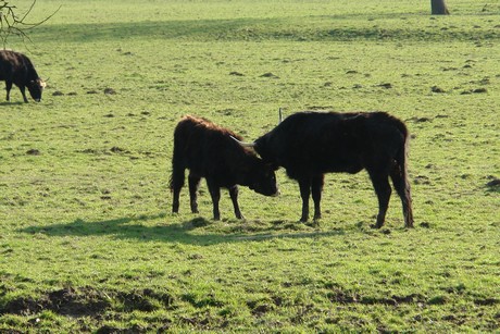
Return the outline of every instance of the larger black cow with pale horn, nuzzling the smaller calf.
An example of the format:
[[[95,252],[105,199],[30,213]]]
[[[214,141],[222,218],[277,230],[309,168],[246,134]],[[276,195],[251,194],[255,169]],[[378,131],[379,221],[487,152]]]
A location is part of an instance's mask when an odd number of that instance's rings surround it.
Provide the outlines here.
[[[284,166],[288,176],[299,182],[302,222],[309,218],[311,193],[314,219],[321,218],[325,173],[355,174],[366,169],[378,197],[375,227],[379,228],[391,194],[389,177],[402,201],[404,224],[413,226],[408,143],[407,126],[385,112],[298,112],[254,143],[240,144],[253,147],[264,161]]]

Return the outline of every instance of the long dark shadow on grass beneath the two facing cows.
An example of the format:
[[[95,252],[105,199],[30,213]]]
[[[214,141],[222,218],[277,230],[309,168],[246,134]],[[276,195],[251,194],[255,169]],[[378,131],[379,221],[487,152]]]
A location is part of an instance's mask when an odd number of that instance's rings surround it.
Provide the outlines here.
[[[246,221],[234,223],[234,226],[222,232],[197,232],[221,222],[209,221],[204,218],[195,218],[180,223],[147,224],[148,221],[166,217],[139,215],[104,221],[85,221],[77,219],[71,223],[60,223],[43,226],[29,226],[18,230],[22,233],[43,234],[47,236],[112,236],[116,239],[135,239],[139,242],[182,243],[189,245],[216,245],[222,243],[247,243],[273,238],[317,238],[323,236],[343,235],[343,230],[334,231],[295,231],[293,226],[301,223],[275,221],[271,223],[249,224]],[[210,230],[210,228],[205,228]]]

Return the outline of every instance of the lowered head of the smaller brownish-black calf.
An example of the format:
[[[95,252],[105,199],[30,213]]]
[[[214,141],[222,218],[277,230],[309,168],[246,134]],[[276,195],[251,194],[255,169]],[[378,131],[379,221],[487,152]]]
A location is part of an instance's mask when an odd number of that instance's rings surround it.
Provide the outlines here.
[[[265,196],[278,196],[275,170],[274,166],[255,157],[252,170],[248,175],[248,187]]]

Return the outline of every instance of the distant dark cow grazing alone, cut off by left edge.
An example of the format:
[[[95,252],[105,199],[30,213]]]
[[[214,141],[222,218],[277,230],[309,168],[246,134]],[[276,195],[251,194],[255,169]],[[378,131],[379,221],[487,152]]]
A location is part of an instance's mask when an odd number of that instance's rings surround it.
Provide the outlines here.
[[[32,98],[37,102],[41,100],[41,91],[46,87],[46,83],[38,76],[29,58],[10,50],[0,50],[0,81],[5,82],[8,101],[10,100],[12,84],[20,87],[25,102],[28,101],[25,92],[26,87]]]

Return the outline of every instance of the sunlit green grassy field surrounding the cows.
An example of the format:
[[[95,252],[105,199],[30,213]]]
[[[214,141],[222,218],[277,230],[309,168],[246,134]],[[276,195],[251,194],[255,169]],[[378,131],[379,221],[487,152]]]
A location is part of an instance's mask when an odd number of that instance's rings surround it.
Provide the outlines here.
[[[27,8],[30,1],[18,1]],[[55,1],[12,39],[50,77],[0,97],[0,332],[500,331],[500,4]],[[415,228],[367,175],[240,190],[247,220],[171,213],[184,114],[252,140],[300,110],[384,110],[412,133]]]

